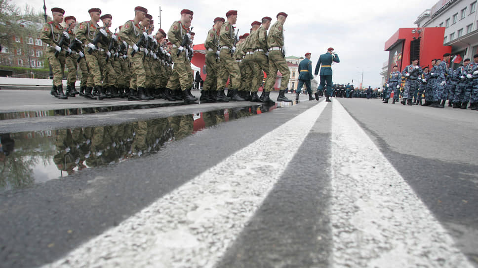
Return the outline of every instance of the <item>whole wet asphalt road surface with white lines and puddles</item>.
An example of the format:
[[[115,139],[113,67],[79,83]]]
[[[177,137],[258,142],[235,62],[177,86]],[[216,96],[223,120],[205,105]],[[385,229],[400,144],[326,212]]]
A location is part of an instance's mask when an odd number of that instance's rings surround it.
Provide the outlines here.
[[[0,267],[478,267],[477,111],[0,99]]]

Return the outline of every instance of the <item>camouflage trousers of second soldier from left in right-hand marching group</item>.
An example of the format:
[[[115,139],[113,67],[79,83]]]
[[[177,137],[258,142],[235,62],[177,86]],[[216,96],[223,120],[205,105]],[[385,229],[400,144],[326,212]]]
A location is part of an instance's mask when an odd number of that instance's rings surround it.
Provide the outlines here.
[[[229,90],[236,90],[239,88],[240,84],[240,70],[238,63],[231,56],[229,49],[221,49],[219,54],[221,63],[223,64],[223,71],[220,72],[217,80],[217,90],[224,90],[227,83],[228,76],[231,79],[229,84]]]

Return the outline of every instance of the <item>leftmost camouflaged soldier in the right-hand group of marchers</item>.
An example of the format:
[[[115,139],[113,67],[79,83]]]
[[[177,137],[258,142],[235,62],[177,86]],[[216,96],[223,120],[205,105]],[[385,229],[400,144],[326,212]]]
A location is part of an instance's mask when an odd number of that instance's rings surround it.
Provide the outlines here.
[[[206,49],[206,70],[207,75],[202,87],[201,102],[216,102],[217,95],[217,73],[219,66],[219,32],[226,20],[221,17],[214,19],[214,26],[207,33],[204,48]]]

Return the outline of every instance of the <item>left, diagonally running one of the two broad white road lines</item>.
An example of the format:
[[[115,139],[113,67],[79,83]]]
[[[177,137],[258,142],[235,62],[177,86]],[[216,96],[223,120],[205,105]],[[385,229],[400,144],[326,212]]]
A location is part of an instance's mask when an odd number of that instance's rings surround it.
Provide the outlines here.
[[[319,102],[46,267],[213,267],[325,106]]]

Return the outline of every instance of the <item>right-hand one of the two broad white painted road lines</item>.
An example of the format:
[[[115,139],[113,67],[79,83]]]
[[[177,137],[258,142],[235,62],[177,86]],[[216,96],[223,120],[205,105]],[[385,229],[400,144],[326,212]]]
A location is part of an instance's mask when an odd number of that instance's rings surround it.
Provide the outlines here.
[[[473,267],[337,100],[331,186],[334,267]]]

